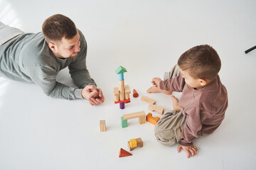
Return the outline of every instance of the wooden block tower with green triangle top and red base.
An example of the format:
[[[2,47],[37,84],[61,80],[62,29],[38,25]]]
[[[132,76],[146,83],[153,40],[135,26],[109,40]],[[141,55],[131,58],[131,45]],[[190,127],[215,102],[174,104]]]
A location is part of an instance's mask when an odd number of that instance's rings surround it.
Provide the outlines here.
[[[124,86],[124,72],[127,72],[127,69],[119,66],[115,72],[118,74],[119,84],[118,88],[114,87],[114,103],[119,103],[119,107],[124,109],[124,103],[130,102],[129,94],[131,94],[129,86]]]

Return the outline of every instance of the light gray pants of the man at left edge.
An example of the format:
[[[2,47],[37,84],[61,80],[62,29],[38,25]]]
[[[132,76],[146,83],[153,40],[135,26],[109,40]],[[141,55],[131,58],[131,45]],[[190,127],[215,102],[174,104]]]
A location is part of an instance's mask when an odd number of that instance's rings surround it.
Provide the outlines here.
[[[0,46],[22,33],[23,33],[22,30],[19,30],[18,28],[6,26],[4,23],[0,22]]]

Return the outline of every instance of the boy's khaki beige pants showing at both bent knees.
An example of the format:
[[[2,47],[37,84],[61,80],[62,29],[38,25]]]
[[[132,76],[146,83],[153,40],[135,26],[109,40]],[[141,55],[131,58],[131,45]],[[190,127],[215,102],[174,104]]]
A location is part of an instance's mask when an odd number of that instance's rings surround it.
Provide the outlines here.
[[[175,65],[171,72],[164,74],[164,80],[171,79],[181,75],[178,65]],[[165,113],[155,126],[156,140],[166,146],[176,144],[181,137],[181,130],[185,123],[186,116],[182,114],[182,111],[171,111]]]

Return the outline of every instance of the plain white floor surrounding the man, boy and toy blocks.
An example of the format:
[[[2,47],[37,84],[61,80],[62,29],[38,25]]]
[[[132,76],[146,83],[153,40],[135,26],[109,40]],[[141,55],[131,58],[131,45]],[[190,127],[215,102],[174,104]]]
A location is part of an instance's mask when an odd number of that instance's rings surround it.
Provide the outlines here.
[[[87,67],[105,103],[65,101],[44,95],[34,84],[0,78],[0,169],[256,169],[256,1],[15,1],[0,0],[0,21],[25,32],[41,31],[55,13],[70,17],[85,35]],[[225,120],[213,135],[196,140],[196,157],[156,142],[154,125],[125,113],[147,110],[131,98],[124,110],[113,101],[115,69],[127,69],[125,84],[154,98],[165,111],[171,96],[146,94],[153,77],[163,77],[190,47],[212,45],[222,60],[220,78],[228,89]],[[58,81],[73,85],[68,69]],[[181,94],[175,94],[181,96]],[[160,116],[153,113],[154,116]],[[107,132],[100,132],[106,120]],[[127,141],[144,147],[119,158]]]

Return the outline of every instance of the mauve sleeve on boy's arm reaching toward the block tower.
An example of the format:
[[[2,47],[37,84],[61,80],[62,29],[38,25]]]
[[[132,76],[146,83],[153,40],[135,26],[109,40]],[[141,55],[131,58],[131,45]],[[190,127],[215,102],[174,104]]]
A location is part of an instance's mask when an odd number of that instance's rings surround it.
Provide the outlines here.
[[[172,79],[166,79],[164,81],[160,81],[160,89],[166,91],[177,91],[182,92],[186,82],[182,75],[178,77],[174,77]]]

